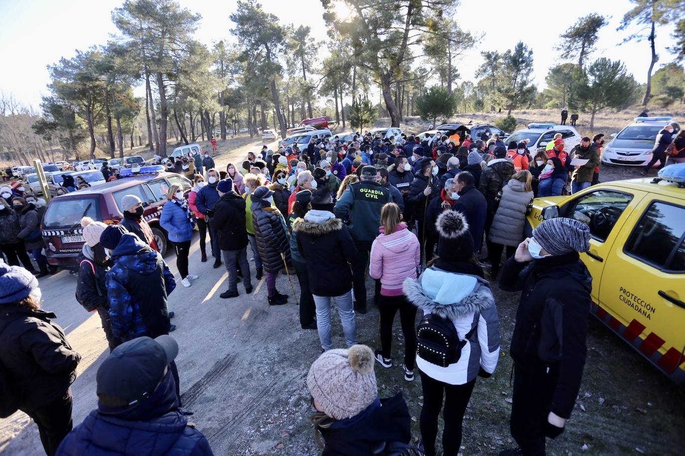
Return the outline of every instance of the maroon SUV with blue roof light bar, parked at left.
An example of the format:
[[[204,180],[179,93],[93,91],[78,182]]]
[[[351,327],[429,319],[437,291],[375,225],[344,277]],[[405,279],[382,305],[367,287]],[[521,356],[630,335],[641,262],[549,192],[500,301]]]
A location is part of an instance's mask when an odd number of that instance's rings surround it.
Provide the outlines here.
[[[105,224],[118,223],[123,217],[121,199],[125,195],[136,195],[142,200],[143,217],[152,228],[160,253],[166,254],[169,241],[159,224],[166,191],[170,185],[179,184],[188,193],[190,180],[179,174],[162,172],[160,165],[141,167],[140,172],[130,174],[130,177],[55,196],[51,200],[41,221],[49,264],[77,269],[76,258],[84,245],[81,218],[87,215]]]

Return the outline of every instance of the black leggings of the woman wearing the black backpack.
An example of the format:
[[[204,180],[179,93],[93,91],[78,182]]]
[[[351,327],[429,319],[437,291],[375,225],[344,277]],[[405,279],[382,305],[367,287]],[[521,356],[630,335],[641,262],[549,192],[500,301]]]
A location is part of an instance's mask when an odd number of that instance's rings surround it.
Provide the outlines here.
[[[443,410],[443,454],[457,456],[462,444],[462,422],[466,405],[469,405],[475,379],[463,385],[450,385],[432,379],[421,372],[423,389],[423,407],[421,407],[421,438],[426,456],[435,455],[435,440],[438,435],[438,415],[443,408],[443,391],[445,408]]]

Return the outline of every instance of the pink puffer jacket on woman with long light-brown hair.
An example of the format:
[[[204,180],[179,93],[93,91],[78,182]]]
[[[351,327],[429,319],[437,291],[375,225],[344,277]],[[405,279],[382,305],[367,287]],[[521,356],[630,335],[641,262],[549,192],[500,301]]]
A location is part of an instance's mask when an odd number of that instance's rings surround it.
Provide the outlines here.
[[[381,294],[399,296],[406,278],[416,278],[416,267],[421,264],[421,247],[416,234],[406,224],[398,224],[395,232],[381,234],[371,245],[369,276],[381,280]]]

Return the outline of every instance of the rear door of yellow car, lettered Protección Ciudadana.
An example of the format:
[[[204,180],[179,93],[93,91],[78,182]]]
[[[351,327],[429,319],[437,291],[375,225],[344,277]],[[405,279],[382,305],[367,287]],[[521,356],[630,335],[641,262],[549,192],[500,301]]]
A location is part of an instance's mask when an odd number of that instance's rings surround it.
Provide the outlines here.
[[[625,327],[623,338],[668,374],[685,349],[684,284],[685,204],[645,198],[610,252],[600,301]]]

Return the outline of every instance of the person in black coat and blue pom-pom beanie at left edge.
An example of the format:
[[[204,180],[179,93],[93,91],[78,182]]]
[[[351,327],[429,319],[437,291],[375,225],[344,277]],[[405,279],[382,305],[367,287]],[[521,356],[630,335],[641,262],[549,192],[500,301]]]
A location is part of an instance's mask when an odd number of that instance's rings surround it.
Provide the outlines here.
[[[29,271],[0,263],[0,276],[0,363],[14,399],[0,405],[30,416],[45,453],[53,455],[73,427],[69,387],[81,356],[51,321],[55,314],[40,310],[38,280]]]

